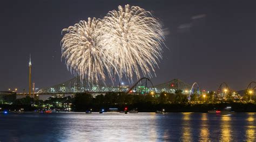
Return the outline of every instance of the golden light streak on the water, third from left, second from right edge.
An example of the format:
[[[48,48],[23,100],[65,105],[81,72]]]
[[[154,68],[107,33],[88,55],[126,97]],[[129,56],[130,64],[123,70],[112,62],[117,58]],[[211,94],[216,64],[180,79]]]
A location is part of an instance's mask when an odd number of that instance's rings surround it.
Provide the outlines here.
[[[231,115],[221,115],[221,141],[232,141]]]

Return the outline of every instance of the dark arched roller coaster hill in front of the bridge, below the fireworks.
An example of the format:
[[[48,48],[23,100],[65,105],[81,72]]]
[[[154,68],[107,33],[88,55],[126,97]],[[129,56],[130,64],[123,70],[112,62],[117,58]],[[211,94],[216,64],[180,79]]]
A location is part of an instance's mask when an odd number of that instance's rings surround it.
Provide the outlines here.
[[[149,83],[151,84],[151,86],[153,87],[153,90],[152,90],[152,91],[153,91],[154,93],[156,93],[156,90],[155,90],[154,85],[153,85],[153,83],[151,82],[151,80],[150,80],[149,78],[143,77],[143,78],[140,78],[140,79],[138,80],[138,82],[135,83],[135,84],[126,92],[126,94],[131,93],[133,89],[136,89],[136,90],[137,90],[137,85],[139,85],[139,84],[140,84],[141,86],[143,86],[145,93],[149,93],[149,90],[147,90],[147,89],[148,89],[148,87],[147,87],[147,83],[148,83],[148,82],[149,82]],[[140,89],[140,91],[143,91],[143,89],[142,89],[142,90]],[[150,90],[150,91],[151,91],[151,90]]]

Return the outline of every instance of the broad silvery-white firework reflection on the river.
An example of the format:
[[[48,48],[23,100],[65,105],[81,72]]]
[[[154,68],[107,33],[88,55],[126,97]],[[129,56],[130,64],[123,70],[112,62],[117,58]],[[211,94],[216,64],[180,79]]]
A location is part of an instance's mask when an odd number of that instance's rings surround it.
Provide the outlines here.
[[[80,121],[77,122],[77,119]],[[149,114],[84,114],[66,127],[65,134],[72,140],[88,141],[150,141],[157,140],[155,113]]]

